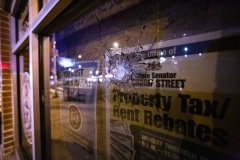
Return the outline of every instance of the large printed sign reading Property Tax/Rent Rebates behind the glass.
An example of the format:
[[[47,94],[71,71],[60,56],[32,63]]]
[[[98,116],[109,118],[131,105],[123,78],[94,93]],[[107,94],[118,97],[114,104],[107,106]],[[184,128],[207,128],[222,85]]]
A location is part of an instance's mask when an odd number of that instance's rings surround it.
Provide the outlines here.
[[[203,52],[212,43],[137,53],[149,69],[109,91],[113,159],[239,158],[239,48]]]

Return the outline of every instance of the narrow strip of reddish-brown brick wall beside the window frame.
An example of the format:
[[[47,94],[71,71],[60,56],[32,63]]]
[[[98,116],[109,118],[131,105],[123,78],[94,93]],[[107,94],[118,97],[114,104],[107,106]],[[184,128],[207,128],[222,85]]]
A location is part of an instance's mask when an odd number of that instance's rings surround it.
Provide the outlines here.
[[[10,15],[0,9],[0,107],[3,156],[13,152],[13,108],[10,64]]]

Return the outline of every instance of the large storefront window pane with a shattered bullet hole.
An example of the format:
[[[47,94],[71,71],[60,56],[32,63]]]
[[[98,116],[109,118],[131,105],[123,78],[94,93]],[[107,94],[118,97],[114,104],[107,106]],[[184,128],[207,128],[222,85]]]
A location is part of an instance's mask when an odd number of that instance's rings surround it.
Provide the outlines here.
[[[240,24],[217,16],[235,6],[170,3],[107,2],[54,33],[54,159],[236,158]]]

